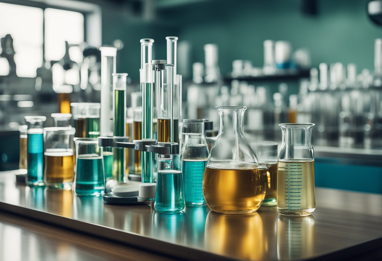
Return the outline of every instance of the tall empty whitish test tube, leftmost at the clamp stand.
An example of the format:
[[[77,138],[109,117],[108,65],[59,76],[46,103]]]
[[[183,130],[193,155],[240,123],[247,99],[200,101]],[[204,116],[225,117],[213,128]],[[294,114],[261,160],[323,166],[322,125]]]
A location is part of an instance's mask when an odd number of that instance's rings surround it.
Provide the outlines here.
[[[100,134],[111,136],[113,134],[113,80],[112,74],[115,73],[115,57],[117,48],[100,47],[101,51],[101,124]],[[124,135],[123,135],[124,136]]]

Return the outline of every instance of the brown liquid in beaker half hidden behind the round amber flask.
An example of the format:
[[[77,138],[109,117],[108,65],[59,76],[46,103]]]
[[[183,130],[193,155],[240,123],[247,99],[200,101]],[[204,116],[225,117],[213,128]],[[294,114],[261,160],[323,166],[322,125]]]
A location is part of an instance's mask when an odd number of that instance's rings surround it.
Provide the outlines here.
[[[274,206],[277,198],[277,163],[267,163],[268,169],[261,169],[265,189],[265,198],[262,205]]]

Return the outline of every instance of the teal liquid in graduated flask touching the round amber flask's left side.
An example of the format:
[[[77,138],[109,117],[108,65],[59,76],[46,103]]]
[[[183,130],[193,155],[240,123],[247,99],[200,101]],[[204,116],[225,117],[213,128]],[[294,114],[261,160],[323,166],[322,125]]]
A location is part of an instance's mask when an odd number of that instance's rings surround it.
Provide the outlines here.
[[[187,206],[205,204],[203,197],[203,174],[206,163],[206,159],[183,160],[183,181]]]

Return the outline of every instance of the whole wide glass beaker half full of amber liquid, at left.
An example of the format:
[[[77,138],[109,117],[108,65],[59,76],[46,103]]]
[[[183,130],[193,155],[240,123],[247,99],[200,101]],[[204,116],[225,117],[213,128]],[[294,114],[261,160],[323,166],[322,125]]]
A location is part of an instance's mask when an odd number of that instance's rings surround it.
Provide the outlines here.
[[[74,143],[76,129],[44,128],[44,184],[50,188],[70,190],[74,179]]]

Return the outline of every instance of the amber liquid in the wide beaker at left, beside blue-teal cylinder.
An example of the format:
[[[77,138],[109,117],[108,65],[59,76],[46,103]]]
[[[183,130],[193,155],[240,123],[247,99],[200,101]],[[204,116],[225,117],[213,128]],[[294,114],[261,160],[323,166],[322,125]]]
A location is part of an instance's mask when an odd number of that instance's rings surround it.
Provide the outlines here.
[[[74,179],[73,151],[46,151],[44,183],[49,187],[69,187]]]

